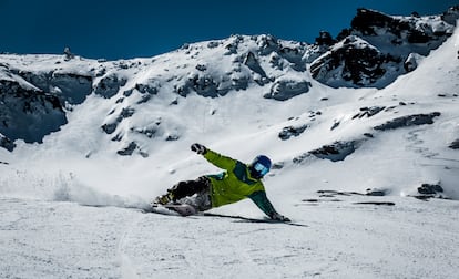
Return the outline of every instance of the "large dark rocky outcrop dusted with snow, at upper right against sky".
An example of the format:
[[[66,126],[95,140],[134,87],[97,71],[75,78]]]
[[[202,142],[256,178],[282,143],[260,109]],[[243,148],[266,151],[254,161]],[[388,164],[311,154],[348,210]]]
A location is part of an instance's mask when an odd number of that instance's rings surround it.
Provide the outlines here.
[[[443,43],[458,18],[458,8],[436,17],[391,17],[358,9],[351,28],[343,30],[336,40],[326,33],[316,39],[323,55],[312,61],[310,72],[334,87],[385,87],[400,74],[414,71],[420,56]],[[329,46],[324,50],[324,45]]]

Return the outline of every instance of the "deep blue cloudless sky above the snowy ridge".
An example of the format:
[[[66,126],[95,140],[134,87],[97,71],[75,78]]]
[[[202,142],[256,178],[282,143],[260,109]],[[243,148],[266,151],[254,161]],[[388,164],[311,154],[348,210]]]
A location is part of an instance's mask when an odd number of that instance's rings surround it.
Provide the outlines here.
[[[231,34],[273,34],[313,43],[334,37],[356,9],[439,14],[459,0],[0,0],[0,52],[85,58],[154,56]]]

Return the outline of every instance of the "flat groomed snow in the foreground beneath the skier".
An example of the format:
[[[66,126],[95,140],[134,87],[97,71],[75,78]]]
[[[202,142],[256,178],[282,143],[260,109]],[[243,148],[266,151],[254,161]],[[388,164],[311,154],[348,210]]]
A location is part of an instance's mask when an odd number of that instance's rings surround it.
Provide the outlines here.
[[[302,202],[308,227],[2,198],[0,277],[455,278],[459,204],[354,204],[388,198]]]

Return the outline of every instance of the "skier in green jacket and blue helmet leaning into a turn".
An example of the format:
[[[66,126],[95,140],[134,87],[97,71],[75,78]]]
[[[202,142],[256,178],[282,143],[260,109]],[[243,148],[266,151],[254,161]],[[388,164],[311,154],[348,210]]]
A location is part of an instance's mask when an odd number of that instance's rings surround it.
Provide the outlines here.
[[[225,169],[218,175],[201,176],[196,180],[180,182],[167,194],[156,197],[153,204],[187,204],[197,211],[251,198],[269,218],[290,221],[278,214],[268,198],[262,178],[269,172],[271,161],[264,155],[257,156],[252,164],[223,156],[201,144],[191,146],[193,152],[203,155],[213,165]]]

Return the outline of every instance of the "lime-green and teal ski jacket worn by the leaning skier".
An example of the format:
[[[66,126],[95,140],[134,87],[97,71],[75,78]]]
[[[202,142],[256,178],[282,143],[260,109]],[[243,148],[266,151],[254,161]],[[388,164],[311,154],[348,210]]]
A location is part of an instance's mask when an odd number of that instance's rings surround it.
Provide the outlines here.
[[[248,197],[267,216],[272,217],[276,213],[266,197],[262,180],[251,176],[247,165],[210,149],[204,157],[213,165],[226,170],[220,175],[207,176],[212,183],[212,207],[233,204]]]

